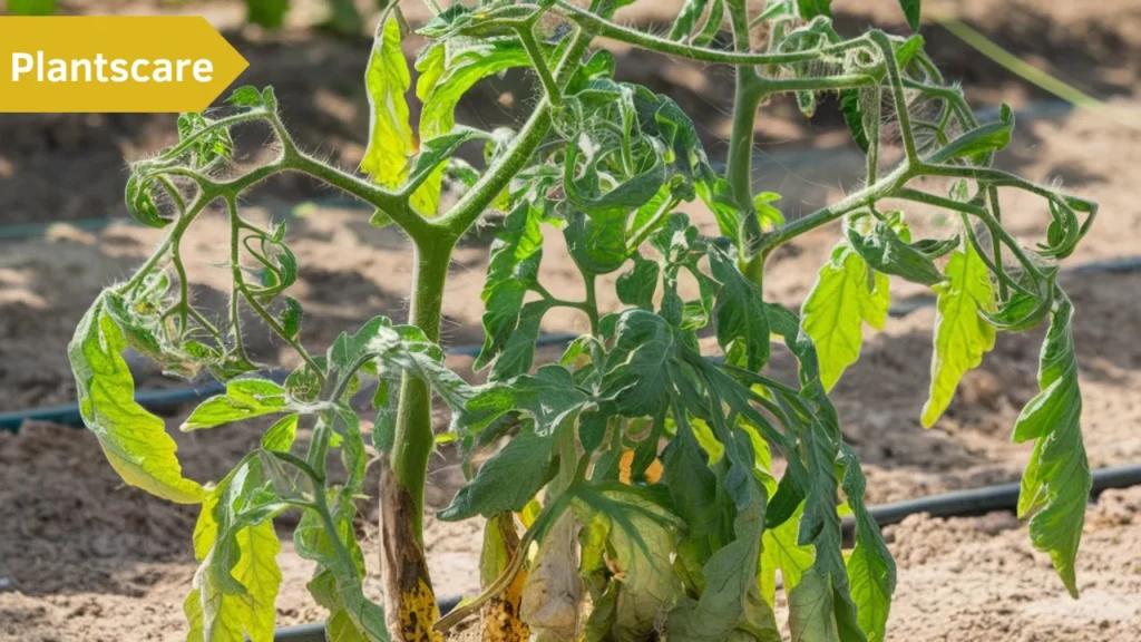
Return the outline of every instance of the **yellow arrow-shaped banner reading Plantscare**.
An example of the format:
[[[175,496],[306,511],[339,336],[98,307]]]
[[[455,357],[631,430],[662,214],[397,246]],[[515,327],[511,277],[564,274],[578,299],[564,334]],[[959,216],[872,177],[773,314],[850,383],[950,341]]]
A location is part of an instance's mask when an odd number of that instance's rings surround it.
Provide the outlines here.
[[[248,65],[201,16],[0,17],[0,112],[200,112]]]

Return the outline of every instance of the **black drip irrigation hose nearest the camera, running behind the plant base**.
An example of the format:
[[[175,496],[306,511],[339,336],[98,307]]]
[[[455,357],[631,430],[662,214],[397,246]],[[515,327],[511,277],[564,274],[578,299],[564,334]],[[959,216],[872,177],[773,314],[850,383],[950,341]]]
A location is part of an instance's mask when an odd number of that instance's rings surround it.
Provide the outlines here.
[[[1093,488],[1090,498],[1097,499],[1103,491],[1114,488],[1130,488],[1141,484],[1141,464],[1100,468],[1093,472]],[[1014,511],[1018,507],[1018,493],[1021,485],[1004,483],[987,488],[961,490],[945,495],[932,495],[905,501],[871,506],[872,517],[881,527],[897,524],[911,515],[926,513],[932,517],[966,517],[985,515],[995,511]],[[844,517],[845,538],[850,539],[855,530],[851,516]],[[444,597],[439,601],[440,615],[447,615],[460,603],[460,597]],[[275,642],[325,642],[325,625],[323,623],[286,626],[274,632]]]

